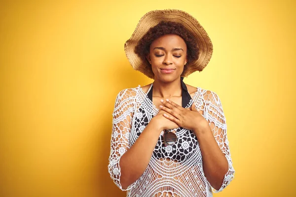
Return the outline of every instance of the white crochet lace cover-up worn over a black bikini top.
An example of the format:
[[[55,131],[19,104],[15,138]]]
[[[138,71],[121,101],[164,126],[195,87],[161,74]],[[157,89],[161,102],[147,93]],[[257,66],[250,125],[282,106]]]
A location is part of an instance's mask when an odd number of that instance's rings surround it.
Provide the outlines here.
[[[168,146],[163,144],[161,131],[146,170],[126,189],[127,197],[212,197],[212,191],[221,192],[233,179],[235,170],[228,146],[226,119],[218,95],[197,87],[197,92],[186,107],[191,107],[193,102],[197,104],[197,109],[203,111],[203,117],[209,122],[228,161],[228,171],[221,188],[215,190],[204,175],[202,155],[194,132],[177,128],[178,141]],[[140,85],[124,89],[116,97],[108,169],[114,183],[123,191],[120,185],[120,158],[157,113],[158,109]]]

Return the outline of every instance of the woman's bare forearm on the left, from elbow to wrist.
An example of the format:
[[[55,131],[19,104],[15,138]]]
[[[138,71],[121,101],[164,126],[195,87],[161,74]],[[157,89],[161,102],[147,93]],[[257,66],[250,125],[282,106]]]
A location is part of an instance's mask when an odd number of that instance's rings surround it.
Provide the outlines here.
[[[120,159],[120,184],[123,189],[134,183],[146,170],[161,129],[150,123],[142,131],[135,143]]]

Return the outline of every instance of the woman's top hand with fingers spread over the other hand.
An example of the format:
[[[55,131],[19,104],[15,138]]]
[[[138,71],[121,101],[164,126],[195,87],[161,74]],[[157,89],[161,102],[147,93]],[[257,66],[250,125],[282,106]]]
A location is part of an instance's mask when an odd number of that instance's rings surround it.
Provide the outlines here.
[[[161,101],[163,105],[160,105],[160,108],[167,112],[163,116],[168,120],[175,122],[179,127],[193,131],[209,127],[208,121],[201,115],[201,111],[196,109],[194,103],[191,108],[184,108],[172,100],[167,100]]]

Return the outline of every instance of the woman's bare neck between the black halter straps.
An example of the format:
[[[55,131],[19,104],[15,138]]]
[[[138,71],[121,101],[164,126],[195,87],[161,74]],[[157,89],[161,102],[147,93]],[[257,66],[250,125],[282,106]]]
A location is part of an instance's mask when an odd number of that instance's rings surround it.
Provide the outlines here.
[[[181,78],[165,83],[155,79],[153,82],[153,97],[169,99],[172,97],[182,97]]]

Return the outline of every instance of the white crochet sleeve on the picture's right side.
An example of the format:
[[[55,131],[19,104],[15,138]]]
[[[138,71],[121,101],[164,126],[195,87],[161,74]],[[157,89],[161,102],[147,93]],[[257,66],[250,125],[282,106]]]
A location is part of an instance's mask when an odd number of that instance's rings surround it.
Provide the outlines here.
[[[232,166],[232,160],[229,150],[229,143],[227,139],[227,126],[226,126],[226,118],[223,113],[222,103],[220,98],[215,92],[206,91],[205,95],[206,107],[204,110],[204,117],[208,120],[209,125],[212,129],[214,137],[225,155],[225,158],[228,161],[228,171],[224,175],[224,180],[222,186],[219,190],[215,190],[212,186],[211,189],[214,193],[221,192],[227,185],[229,185],[230,181],[234,178],[235,170]],[[210,183],[209,183],[210,184]],[[210,184],[211,185],[211,184]]]

